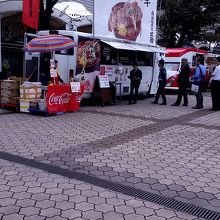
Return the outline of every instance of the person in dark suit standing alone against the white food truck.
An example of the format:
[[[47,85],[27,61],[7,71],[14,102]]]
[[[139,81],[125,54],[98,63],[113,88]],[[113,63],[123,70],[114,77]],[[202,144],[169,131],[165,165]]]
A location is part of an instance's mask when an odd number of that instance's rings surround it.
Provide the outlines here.
[[[130,76],[128,78],[131,80],[131,91],[130,91],[130,98],[128,104],[136,104],[137,97],[138,97],[138,89],[142,79],[142,71],[138,69],[137,63],[133,64],[133,70],[130,72]],[[135,94],[133,95],[135,90]],[[133,101],[133,102],[132,102]]]

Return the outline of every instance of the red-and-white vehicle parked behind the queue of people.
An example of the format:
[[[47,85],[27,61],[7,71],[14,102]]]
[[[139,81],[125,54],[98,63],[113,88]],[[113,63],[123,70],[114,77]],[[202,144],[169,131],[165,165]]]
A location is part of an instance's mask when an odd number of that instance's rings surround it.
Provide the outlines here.
[[[167,70],[166,89],[178,89],[178,74],[180,72],[182,58],[188,59],[188,64],[193,73],[196,58],[200,57],[206,61],[207,51],[196,48],[167,48],[164,56],[165,68]]]

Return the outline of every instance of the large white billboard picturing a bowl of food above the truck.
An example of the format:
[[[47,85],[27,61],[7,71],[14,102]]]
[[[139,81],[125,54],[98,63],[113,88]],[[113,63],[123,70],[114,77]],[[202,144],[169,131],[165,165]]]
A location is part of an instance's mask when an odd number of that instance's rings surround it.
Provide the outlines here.
[[[156,45],[157,1],[94,0],[94,35]]]

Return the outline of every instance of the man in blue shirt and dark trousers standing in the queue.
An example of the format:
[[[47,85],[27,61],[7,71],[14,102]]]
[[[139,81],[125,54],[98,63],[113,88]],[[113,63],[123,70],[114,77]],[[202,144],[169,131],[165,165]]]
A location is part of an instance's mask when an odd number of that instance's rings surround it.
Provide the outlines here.
[[[197,58],[196,60],[196,69],[193,75],[193,84],[199,86],[199,91],[196,94],[196,106],[192,107],[193,109],[203,108],[203,78],[206,75],[206,68],[202,64],[202,59]]]

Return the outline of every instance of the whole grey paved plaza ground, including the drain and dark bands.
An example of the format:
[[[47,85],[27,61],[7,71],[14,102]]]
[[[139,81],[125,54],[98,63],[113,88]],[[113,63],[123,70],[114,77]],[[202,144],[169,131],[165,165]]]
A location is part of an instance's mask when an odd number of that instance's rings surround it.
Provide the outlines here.
[[[43,117],[0,110],[1,220],[220,219],[220,112],[82,106]]]

